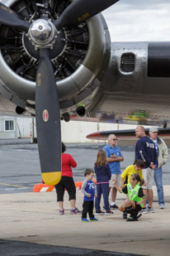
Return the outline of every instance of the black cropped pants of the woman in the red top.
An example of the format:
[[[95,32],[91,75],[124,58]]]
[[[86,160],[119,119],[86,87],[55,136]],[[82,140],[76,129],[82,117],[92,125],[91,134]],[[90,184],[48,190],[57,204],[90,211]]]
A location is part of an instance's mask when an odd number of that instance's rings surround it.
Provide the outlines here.
[[[57,201],[64,201],[64,190],[68,191],[69,199],[76,199],[76,187],[73,181],[73,177],[62,176],[61,180],[57,185],[55,185],[55,190],[57,193]]]

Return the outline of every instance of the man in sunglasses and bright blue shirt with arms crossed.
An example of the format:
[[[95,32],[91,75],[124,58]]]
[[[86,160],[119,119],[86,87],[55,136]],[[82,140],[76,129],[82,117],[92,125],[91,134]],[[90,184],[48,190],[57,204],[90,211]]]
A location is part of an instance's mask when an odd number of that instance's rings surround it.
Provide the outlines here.
[[[112,180],[116,180],[116,185],[120,186],[120,162],[124,161],[124,157],[120,152],[120,147],[117,146],[117,138],[115,134],[110,134],[108,137],[108,144],[103,147],[106,152],[106,160],[111,169],[111,180],[109,183],[109,188],[111,190],[111,209],[118,209],[116,205],[116,187],[113,185]]]

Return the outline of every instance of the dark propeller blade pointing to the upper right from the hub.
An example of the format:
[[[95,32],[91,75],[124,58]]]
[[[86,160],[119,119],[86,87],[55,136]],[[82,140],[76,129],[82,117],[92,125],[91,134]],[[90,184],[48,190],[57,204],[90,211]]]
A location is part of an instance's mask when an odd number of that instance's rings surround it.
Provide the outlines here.
[[[95,16],[119,0],[74,0],[62,12],[54,26],[60,30],[66,25],[75,25]]]

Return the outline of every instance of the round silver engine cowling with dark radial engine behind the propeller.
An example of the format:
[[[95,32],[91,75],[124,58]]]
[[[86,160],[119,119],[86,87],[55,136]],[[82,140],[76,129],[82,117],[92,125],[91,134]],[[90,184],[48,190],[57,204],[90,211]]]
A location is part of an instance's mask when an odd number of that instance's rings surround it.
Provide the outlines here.
[[[59,17],[70,2],[50,1],[49,18]],[[32,22],[40,18],[45,1],[36,1],[36,6],[22,0],[2,3]],[[0,38],[0,92],[22,109],[35,109],[37,50],[25,32],[12,27],[1,25]],[[63,112],[97,94],[110,60],[110,48],[109,31],[101,14],[59,32],[50,58]]]

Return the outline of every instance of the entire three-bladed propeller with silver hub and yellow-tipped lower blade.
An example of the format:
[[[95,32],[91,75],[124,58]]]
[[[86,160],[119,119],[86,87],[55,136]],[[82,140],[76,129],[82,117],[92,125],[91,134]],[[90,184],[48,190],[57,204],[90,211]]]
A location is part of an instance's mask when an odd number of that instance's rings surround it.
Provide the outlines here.
[[[76,25],[119,0],[74,0],[54,22],[43,18],[32,24],[24,21],[0,2],[0,23],[28,32],[35,49],[39,51],[36,73],[35,118],[42,178],[46,184],[55,185],[61,177],[61,132],[59,96],[50,61],[50,48],[57,31],[66,25]],[[56,28],[55,28],[56,27]]]

